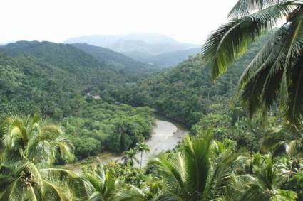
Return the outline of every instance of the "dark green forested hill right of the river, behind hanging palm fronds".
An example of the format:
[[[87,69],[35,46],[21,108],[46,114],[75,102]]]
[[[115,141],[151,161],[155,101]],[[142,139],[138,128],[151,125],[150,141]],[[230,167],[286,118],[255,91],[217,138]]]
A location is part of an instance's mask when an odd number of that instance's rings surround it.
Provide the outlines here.
[[[120,93],[120,99],[135,106],[149,105],[184,124],[195,124],[203,115],[228,106],[240,75],[261,46],[262,41],[251,45],[215,84],[210,69],[197,55],[177,67],[138,82],[130,93]]]

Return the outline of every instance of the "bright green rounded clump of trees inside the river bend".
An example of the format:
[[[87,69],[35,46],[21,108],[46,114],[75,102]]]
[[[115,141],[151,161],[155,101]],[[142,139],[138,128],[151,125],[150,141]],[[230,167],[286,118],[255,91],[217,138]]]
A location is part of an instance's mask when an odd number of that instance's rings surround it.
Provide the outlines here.
[[[148,107],[108,104],[91,100],[78,116],[63,119],[66,134],[75,145],[77,158],[103,150],[123,152],[150,137],[153,117]]]

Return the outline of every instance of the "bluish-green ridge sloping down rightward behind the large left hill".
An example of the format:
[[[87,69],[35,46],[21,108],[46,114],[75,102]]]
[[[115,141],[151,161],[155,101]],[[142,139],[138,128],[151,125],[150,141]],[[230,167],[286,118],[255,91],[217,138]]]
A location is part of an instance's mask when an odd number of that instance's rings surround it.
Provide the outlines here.
[[[92,55],[98,61],[106,63],[113,69],[126,74],[129,78],[132,79],[138,79],[139,74],[140,76],[143,76],[158,70],[153,65],[147,65],[145,63],[138,62],[136,60],[133,60],[133,58],[129,58],[122,53],[115,52],[108,48],[88,45],[86,43],[73,43],[71,45]]]

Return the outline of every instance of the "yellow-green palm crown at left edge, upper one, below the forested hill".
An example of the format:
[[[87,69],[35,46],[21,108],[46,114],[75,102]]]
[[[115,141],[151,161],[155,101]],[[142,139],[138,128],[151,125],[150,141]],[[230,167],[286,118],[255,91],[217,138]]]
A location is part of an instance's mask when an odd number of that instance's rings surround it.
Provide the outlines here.
[[[58,155],[71,161],[71,143],[58,126],[35,114],[8,116],[1,124],[1,156],[4,163],[31,161],[51,165]]]

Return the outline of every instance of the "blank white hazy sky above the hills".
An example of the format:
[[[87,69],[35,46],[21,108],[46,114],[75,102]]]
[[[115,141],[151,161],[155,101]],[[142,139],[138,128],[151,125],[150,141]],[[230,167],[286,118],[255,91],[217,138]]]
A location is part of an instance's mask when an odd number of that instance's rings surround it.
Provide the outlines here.
[[[1,0],[0,43],[163,33],[202,43],[237,0]]]

